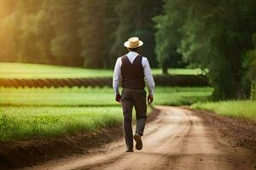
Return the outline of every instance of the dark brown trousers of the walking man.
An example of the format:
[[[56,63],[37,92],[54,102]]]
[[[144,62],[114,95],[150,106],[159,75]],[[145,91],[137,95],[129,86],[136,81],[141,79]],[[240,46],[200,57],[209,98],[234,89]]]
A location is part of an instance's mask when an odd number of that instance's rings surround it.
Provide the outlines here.
[[[147,120],[147,101],[146,91],[144,89],[123,88],[121,94],[121,102],[124,114],[124,133],[125,144],[127,149],[133,148],[133,133],[132,133],[132,109],[136,111],[136,133],[143,136],[144,127]]]

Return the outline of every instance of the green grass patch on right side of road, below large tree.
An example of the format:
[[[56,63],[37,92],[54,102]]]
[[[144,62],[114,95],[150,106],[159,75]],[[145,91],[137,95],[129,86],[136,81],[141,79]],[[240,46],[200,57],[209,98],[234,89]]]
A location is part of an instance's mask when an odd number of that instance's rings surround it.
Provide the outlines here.
[[[256,101],[220,101],[196,103],[193,109],[214,111],[218,115],[245,118],[256,122]]]

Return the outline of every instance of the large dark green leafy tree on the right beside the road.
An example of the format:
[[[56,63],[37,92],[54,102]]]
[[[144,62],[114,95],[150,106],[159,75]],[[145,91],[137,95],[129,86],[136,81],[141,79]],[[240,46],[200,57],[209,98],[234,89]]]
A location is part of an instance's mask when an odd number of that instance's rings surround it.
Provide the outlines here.
[[[255,8],[252,0],[167,0],[166,14],[156,19],[160,61],[183,54],[190,63],[209,69],[214,99],[244,98],[242,63],[253,48]],[[169,53],[161,56],[165,51]]]

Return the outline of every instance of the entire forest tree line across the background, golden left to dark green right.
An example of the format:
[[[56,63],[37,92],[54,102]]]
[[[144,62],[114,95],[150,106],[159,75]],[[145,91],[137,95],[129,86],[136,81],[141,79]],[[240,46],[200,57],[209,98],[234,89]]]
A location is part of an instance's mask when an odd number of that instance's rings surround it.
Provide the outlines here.
[[[255,0],[4,2],[1,60],[112,68],[123,42],[138,36],[163,73],[207,69],[213,99],[245,99],[256,80]]]

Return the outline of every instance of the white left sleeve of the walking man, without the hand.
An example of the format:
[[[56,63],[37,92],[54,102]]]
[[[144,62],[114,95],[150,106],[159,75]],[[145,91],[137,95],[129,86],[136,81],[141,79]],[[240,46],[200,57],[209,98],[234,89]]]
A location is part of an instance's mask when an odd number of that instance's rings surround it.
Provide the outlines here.
[[[121,80],[121,58],[116,60],[113,70],[113,92],[115,95],[119,95],[119,82]]]

